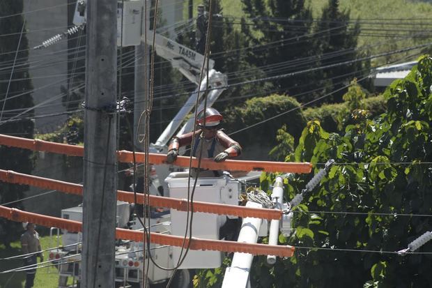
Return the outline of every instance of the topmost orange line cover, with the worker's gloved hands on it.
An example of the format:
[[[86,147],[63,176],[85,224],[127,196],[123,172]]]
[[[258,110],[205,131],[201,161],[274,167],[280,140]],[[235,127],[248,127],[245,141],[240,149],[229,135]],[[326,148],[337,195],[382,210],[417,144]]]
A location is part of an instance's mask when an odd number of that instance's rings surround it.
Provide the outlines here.
[[[13,146],[33,151],[47,151],[52,153],[65,154],[68,156],[84,156],[84,147],[47,142],[38,139],[26,139],[8,135],[0,135],[0,145]],[[137,162],[145,162],[145,153],[135,153]],[[120,162],[133,162],[133,153],[130,151],[117,151],[117,158]],[[173,162],[174,165],[189,167],[189,157],[178,156]],[[167,156],[164,154],[149,153],[148,161],[153,164],[164,164]],[[192,167],[198,167],[198,160],[192,158]],[[247,160],[226,160],[215,162],[210,159],[201,159],[201,168],[210,170],[238,170],[238,171],[266,171],[284,173],[309,173],[312,165],[309,162],[271,162],[271,161],[247,161]]]

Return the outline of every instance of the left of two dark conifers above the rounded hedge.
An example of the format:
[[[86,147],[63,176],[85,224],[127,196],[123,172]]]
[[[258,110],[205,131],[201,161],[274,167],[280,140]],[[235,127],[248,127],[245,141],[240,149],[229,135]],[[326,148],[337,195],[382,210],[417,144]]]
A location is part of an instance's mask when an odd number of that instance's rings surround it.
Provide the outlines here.
[[[252,20],[243,22],[242,33],[245,33],[249,42],[249,63],[255,63],[258,67],[275,64],[288,66],[281,70],[275,68],[262,68],[266,76],[275,76],[281,73],[289,73],[305,68],[298,59],[304,59],[316,55],[313,41],[308,36],[311,32],[311,9],[305,6],[304,0],[270,0],[249,1],[242,0],[246,17]],[[264,49],[264,45],[268,45]],[[307,68],[314,67],[312,64]],[[296,75],[289,78],[277,79],[268,83],[272,89],[281,93],[295,95],[309,90],[314,85],[314,76]]]

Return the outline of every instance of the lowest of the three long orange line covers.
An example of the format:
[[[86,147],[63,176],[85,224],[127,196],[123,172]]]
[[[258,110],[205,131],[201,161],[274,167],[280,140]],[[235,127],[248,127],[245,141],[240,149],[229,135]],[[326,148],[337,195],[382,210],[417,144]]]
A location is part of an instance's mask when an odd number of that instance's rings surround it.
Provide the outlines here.
[[[58,227],[67,229],[70,232],[81,232],[82,222],[56,218],[47,215],[21,211],[18,209],[0,206],[0,217],[17,222],[31,222],[45,227]],[[144,232],[130,229],[116,229],[116,238],[123,240],[139,241],[144,240]],[[171,245],[181,247],[183,245],[182,236],[173,236],[160,233],[151,233],[151,243],[160,245]],[[295,248],[286,245],[265,245],[238,243],[233,241],[209,240],[199,238],[186,238],[185,245],[190,243],[192,250],[213,250],[224,252],[243,252],[252,255],[277,255],[279,257],[291,257]]]

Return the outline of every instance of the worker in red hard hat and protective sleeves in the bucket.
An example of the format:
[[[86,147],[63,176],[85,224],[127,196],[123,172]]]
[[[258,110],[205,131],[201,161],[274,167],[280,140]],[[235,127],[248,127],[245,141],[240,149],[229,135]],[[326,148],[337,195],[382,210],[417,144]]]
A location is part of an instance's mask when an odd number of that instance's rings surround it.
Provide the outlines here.
[[[202,110],[196,117],[196,124],[199,130],[173,137],[169,144],[167,162],[172,163],[178,156],[178,149],[181,146],[192,144],[194,138],[194,146],[192,147],[192,156],[199,158],[213,158],[215,162],[222,162],[230,157],[240,156],[242,147],[238,142],[231,139],[219,129],[223,120],[222,115],[214,108]],[[202,152],[201,152],[202,147]],[[198,169],[192,168],[192,176],[196,176]],[[219,177],[222,172],[208,169],[200,169],[199,176],[201,177]]]

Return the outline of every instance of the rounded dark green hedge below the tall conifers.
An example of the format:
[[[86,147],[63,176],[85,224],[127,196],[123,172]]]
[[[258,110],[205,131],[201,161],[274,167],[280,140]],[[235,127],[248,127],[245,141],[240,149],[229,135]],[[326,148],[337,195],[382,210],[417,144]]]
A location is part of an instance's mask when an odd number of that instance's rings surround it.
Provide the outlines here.
[[[377,116],[385,112],[385,100],[383,96],[374,96],[364,100],[369,116]],[[321,107],[298,109],[300,103],[294,98],[285,95],[272,94],[266,97],[256,97],[247,100],[244,105],[225,109],[224,127],[226,132],[233,133],[243,128],[241,132],[233,135],[240,143],[247,144],[252,141],[266,146],[276,144],[276,132],[286,124],[288,132],[293,135],[295,141],[299,139],[307,121],[318,120],[326,131],[337,132],[337,118],[348,113],[346,103],[328,104]],[[277,114],[290,111],[270,121],[253,126],[265,119],[270,119]],[[252,126],[251,128],[248,128]]]

